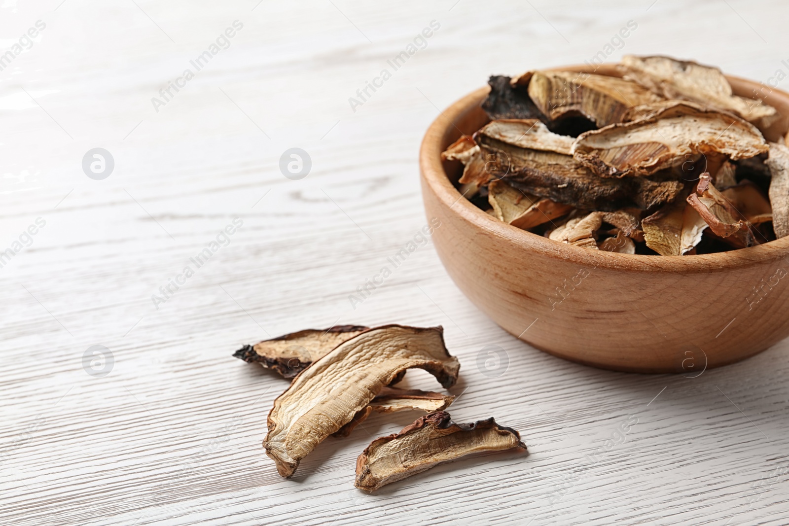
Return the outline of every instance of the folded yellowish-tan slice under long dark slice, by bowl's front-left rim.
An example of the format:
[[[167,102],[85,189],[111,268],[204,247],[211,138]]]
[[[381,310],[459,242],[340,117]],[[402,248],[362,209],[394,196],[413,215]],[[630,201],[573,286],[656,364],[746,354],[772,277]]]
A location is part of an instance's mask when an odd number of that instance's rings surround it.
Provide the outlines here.
[[[570,205],[529,195],[503,181],[490,182],[488,203],[493,207],[496,218],[524,230],[552,221],[573,210]]]

